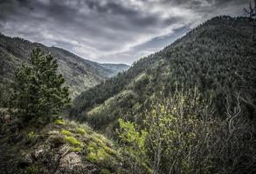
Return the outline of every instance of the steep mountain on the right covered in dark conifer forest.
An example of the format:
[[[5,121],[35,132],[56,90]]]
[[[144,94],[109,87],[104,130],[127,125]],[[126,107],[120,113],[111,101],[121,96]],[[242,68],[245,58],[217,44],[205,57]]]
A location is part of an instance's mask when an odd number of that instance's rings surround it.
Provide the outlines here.
[[[119,117],[138,122],[156,94],[168,97],[176,88],[195,87],[211,99],[216,115],[224,116],[227,95],[239,93],[244,101],[255,97],[252,25],[247,17],[214,17],[200,24],[127,71],[82,92],[71,117],[112,135]],[[252,118],[250,106],[243,107]]]

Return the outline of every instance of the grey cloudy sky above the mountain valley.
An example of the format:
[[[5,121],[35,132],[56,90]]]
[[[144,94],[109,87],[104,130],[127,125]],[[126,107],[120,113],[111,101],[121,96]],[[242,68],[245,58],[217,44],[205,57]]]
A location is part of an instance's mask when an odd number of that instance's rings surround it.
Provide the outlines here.
[[[250,0],[0,0],[0,32],[100,63],[132,64]]]

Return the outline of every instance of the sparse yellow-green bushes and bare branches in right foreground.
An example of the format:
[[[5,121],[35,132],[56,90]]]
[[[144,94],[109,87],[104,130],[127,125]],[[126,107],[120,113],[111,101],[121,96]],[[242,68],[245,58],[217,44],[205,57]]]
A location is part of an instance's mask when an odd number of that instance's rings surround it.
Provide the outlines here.
[[[141,173],[136,167],[144,165],[149,173],[243,173],[245,159],[255,164],[255,139],[239,96],[232,106],[227,98],[227,119],[214,115],[211,97],[204,99],[197,88],[151,98],[142,125],[119,119],[121,150],[129,154],[123,156],[131,172]]]

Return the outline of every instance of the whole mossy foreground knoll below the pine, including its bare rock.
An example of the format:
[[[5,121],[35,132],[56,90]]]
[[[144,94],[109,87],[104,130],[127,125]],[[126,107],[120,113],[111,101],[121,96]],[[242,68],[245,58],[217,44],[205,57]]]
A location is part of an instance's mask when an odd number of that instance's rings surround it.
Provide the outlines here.
[[[63,119],[21,129],[0,110],[0,173],[128,173],[120,151],[86,124]],[[128,166],[126,166],[128,167]]]

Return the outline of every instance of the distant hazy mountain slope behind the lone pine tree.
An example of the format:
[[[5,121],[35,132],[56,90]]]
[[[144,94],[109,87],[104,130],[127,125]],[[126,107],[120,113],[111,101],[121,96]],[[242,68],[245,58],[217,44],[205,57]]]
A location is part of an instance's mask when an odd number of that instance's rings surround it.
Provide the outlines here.
[[[76,97],[81,91],[87,90],[108,77],[128,69],[126,64],[98,64],[57,47],[47,47],[41,43],[31,43],[18,37],[0,35],[0,84],[12,79],[14,70],[28,61],[31,50],[40,47],[45,53],[51,52],[59,63],[59,72],[66,78],[66,85],[71,89],[71,96]]]

